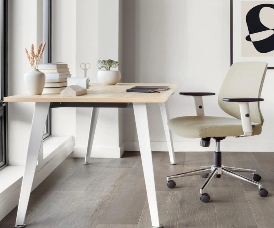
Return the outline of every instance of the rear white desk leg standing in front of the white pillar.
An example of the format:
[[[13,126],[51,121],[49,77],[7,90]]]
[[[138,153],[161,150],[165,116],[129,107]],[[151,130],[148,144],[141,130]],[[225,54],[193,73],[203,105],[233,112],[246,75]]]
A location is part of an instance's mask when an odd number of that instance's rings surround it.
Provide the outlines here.
[[[91,111],[90,126],[89,126],[89,133],[88,133],[88,145],[86,146],[86,158],[84,162],[85,165],[90,164],[89,160],[90,160],[90,154],[91,154],[96,124],[97,124],[99,109],[100,108],[92,108],[92,111]]]

